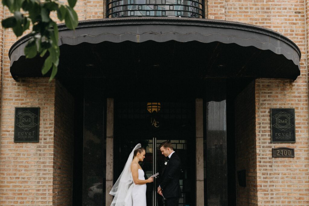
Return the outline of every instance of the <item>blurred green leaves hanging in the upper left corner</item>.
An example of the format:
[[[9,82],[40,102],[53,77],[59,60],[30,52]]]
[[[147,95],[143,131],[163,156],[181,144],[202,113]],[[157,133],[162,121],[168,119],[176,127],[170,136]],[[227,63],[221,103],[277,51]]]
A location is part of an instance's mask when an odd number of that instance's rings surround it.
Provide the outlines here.
[[[57,0],[2,0],[3,6],[7,6],[14,15],[2,20],[4,28],[12,28],[16,36],[21,36],[29,29],[32,23],[32,36],[24,49],[26,58],[43,57],[47,52],[42,74],[52,69],[49,81],[57,74],[60,50],[58,46],[57,23],[50,18],[50,12],[56,11],[60,21],[65,20],[69,29],[75,29],[78,25],[78,17],[74,11],[76,0],[68,0],[69,6],[60,4]],[[23,11],[23,13],[21,12]]]

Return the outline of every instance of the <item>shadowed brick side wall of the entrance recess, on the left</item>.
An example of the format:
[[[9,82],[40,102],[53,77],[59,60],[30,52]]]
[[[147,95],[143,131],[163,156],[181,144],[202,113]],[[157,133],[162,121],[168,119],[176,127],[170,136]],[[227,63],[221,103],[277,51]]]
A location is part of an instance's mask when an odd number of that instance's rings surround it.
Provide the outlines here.
[[[72,205],[74,99],[56,81],[53,151],[53,205]]]

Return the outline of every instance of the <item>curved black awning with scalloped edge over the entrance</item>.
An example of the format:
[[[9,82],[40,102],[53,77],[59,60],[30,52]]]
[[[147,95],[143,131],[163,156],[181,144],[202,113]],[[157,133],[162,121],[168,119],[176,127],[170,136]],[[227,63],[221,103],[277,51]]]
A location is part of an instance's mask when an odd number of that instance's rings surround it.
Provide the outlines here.
[[[114,18],[59,27],[59,75],[264,77],[296,79],[299,48],[272,30],[187,18]],[[43,59],[25,59],[29,36],[10,49],[11,74],[41,76]]]

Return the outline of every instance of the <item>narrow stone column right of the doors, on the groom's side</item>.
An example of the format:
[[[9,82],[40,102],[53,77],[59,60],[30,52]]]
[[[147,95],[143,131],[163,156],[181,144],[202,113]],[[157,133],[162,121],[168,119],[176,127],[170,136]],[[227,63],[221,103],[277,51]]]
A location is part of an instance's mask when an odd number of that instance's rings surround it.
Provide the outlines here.
[[[204,205],[203,99],[195,99],[196,205]]]

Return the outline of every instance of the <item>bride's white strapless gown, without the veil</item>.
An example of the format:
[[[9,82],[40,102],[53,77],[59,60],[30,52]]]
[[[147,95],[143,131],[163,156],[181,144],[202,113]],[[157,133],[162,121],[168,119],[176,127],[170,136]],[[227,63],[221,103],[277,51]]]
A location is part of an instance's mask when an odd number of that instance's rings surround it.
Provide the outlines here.
[[[145,180],[145,173],[143,170],[138,169],[138,179]],[[133,206],[146,206],[146,184],[134,184],[132,190],[132,205]]]

